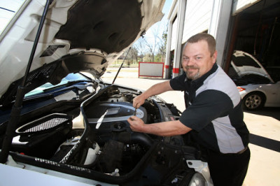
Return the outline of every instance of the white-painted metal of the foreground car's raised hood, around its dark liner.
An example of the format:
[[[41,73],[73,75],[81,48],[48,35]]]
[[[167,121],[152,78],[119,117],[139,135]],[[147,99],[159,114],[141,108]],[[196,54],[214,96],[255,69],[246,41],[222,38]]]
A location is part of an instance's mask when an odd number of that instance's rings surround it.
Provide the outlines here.
[[[30,71],[34,71],[44,64],[54,62],[64,55],[86,50],[85,48],[70,49],[71,43],[69,43],[69,41],[55,38],[60,27],[67,22],[69,9],[77,1],[78,0],[59,0],[54,1],[50,5],[50,10],[48,11],[41,31],[41,36],[38,41]],[[141,21],[139,34],[134,41],[137,41],[142,32],[145,32],[155,22],[162,19],[163,14],[160,10],[162,10],[164,3],[165,1],[143,1],[141,3],[141,15],[143,16],[143,19]],[[25,75],[26,66],[29,61],[30,52],[34,44],[34,38],[36,37],[38,24],[41,20],[44,6],[45,0],[25,1],[0,36],[0,97],[3,96],[11,83]],[[41,57],[42,53],[50,45],[64,45],[64,47],[57,48],[57,50],[55,50],[50,56]],[[118,59],[125,49],[126,48],[124,48],[122,52],[111,52],[110,54],[107,54],[98,48],[90,48],[90,50],[87,49],[86,51],[98,52],[99,54],[104,55],[108,62],[106,66],[109,66],[115,61],[115,59]],[[102,69],[95,70],[102,73]],[[90,69],[88,72],[91,72]]]

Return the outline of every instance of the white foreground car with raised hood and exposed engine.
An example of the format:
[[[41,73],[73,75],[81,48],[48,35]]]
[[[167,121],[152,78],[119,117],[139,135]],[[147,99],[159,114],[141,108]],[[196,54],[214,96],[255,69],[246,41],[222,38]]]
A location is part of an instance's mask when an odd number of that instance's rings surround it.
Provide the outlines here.
[[[0,36],[1,185],[213,185],[188,136],[130,129],[178,120],[173,104],[135,110],[140,90],[101,80],[165,1],[50,2],[24,1]]]

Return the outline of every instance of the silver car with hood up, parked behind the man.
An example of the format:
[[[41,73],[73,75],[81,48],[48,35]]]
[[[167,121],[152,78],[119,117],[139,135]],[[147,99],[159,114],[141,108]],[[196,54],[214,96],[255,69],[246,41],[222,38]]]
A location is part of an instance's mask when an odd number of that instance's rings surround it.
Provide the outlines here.
[[[280,106],[279,79],[271,77],[255,57],[237,50],[232,56],[231,65],[236,74],[233,76],[231,71],[230,76],[237,85],[245,109]]]

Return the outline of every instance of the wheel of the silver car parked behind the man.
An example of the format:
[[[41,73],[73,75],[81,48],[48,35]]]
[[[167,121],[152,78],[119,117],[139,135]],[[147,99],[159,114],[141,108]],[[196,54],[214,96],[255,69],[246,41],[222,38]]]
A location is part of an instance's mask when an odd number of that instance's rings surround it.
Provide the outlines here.
[[[259,92],[251,92],[244,97],[242,103],[246,110],[260,109],[265,105],[265,95]]]

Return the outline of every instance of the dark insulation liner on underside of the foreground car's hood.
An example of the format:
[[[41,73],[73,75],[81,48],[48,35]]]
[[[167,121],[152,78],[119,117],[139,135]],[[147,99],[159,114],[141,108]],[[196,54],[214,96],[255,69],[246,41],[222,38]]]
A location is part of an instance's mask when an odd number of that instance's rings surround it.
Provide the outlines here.
[[[141,3],[137,0],[78,1],[69,9],[67,22],[55,38],[69,41],[70,49],[98,48],[110,54],[134,41],[141,21]]]

